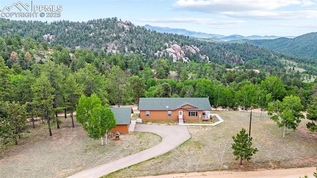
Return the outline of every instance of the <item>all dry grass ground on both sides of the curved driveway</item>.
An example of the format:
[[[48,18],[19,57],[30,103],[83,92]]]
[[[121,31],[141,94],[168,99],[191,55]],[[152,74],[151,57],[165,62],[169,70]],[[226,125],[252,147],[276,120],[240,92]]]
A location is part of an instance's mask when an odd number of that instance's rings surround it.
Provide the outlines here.
[[[170,173],[213,170],[253,171],[277,168],[317,166],[317,133],[309,133],[303,120],[296,132],[282,138],[282,130],[266,114],[253,113],[253,145],[259,149],[251,162],[238,161],[232,154],[232,136],[242,127],[249,131],[250,112],[212,111],[224,122],[217,126],[188,126],[191,139],[157,158],[139,163],[106,178],[126,178]],[[46,124],[24,134],[19,144],[0,146],[0,178],[63,178],[108,163],[159,143],[150,133],[124,134],[119,141],[110,138],[108,145],[87,136],[80,124],[71,128],[70,119],[62,119],[60,129],[48,136]],[[144,123],[145,124],[145,123]],[[175,125],[171,123],[146,123]]]

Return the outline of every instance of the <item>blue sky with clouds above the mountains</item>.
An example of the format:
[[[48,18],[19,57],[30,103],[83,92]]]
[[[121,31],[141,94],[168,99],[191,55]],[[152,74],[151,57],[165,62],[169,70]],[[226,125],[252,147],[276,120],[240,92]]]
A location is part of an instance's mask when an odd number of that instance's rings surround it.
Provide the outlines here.
[[[20,1],[31,5],[31,0]],[[17,2],[0,0],[0,10]],[[52,5],[55,9],[61,5],[61,17],[5,18],[81,22],[117,17],[140,26],[149,24],[226,36],[300,36],[317,32],[317,0],[32,0],[32,4]],[[20,12],[14,8],[9,12]]]

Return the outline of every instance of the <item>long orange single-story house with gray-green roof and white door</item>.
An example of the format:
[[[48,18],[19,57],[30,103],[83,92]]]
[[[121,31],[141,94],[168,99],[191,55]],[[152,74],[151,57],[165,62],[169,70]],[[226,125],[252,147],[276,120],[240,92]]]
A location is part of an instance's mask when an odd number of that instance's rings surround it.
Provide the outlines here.
[[[140,98],[138,110],[143,120],[200,121],[210,119],[209,98]]]

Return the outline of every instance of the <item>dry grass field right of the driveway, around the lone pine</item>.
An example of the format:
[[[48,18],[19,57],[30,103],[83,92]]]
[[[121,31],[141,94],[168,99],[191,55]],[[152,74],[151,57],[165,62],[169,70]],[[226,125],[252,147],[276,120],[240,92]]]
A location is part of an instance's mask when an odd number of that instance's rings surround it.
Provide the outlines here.
[[[238,165],[232,154],[232,136],[241,128],[249,132],[250,112],[212,111],[224,122],[213,127],[188,126],[191,139],[157,158],[105,176],[127,178],[171,173],[204,172],[214,170],[254,171],[278,168],[317,166],[317,133],[306,129],[303,120],[296,132],[289,131],[282,138],[282,130],[267,114],[253,113],[251,136],[259,151],[250,162]]]

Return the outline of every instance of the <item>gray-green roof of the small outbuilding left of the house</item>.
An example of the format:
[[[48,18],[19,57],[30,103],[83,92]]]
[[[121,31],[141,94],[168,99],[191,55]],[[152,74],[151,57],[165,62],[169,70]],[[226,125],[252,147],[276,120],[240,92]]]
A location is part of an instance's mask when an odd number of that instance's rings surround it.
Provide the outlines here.
[[[131,113],[133,112],[131,107],[120,107],[120,108],[110,107],[110,109],[112,110],[114,114],[116,125],[130,124]]]

